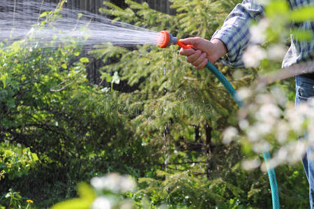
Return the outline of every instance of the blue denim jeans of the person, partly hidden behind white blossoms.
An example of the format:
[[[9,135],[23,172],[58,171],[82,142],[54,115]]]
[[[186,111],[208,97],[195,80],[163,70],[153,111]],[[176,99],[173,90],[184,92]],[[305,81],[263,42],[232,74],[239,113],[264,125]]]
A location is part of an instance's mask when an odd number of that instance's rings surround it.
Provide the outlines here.
[[[308,98],[314,97],[314,80],[305,77],[295,77],[296,81],[296,95],[295,104],[298,105],[301,102],[306,102]],[[310,190],[310,204],[311,209],[314,209],[314,159],[313,148],[308,148],[306,155],[302,158],[306,177],[308,178],[309,190]],[[312,157],[311,157],[312,156]]]

